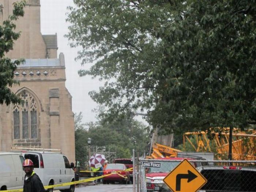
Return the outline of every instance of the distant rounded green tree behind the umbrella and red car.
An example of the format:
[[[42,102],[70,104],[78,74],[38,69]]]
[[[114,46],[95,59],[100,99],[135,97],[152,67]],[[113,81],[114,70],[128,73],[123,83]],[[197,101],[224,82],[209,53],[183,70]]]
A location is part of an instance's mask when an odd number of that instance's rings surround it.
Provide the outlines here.
[[[141,122],[132,118],[122,118],[108,122],[98,121],[88,129],[92,144],[97,146],[116,147],[118,158],[131,158],[132,149],[148,151],[149,130]]]

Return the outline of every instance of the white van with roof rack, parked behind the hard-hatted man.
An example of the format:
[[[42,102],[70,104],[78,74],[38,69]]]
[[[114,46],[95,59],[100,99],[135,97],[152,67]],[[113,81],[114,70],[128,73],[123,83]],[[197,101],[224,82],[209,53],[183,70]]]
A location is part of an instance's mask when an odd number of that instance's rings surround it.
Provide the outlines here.
[[[34,163],[34,172],[40,177],[44,186],[75,181],[75,174],[68,158],[60,153],[46,151],[21,151],[25,159]],[[48,192],[60,190],[74,192],[75,185],[67,185],[48,189]]]

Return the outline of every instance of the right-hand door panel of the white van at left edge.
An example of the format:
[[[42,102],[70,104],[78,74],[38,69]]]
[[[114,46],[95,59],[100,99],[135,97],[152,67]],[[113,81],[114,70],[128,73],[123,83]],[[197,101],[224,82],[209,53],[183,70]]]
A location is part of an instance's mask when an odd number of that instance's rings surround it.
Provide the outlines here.
[[[12,155],[12,160],[14,162],[14,170],[15,170],[15,184],[23,188],[23,179],[25,173],[23,172],[22,163],[24,161],[24,157],[22,155]]]

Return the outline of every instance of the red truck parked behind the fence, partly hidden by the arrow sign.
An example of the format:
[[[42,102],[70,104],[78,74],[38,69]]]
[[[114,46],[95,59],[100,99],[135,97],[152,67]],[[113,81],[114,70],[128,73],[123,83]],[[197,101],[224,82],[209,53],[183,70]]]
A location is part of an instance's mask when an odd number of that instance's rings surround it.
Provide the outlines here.
[[[169,160],[205,160],[202,157],[188,158],[188,157],[169,157],[169,158],[158,158],[158,159],[169,159]],[[157,159],[156,159],[157,160]],[[155,187],[161,187],[163,185],[163,179],[170,173],[180,162],[175,161],[162,161],[161,167],[150,167],[146,170],[146,182],[147,182],[147,192],[154,191]],[[202,166],[202,163],[192,162],[193,166]],[[206,165],[208,165],[206,163]],[[167,169],[168,167],[168,169]]]

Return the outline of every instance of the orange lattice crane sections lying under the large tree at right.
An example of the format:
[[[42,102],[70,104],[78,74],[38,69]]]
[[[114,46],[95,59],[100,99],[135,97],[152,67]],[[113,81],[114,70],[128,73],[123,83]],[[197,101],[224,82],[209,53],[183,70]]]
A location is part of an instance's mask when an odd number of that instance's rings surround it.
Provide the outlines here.
[[[227,157],[229,151],[229,128],[219,129],[220,132],[187,132],[183,135],[183,145],[187,141],[197,152],[214,152],[216,148],[219,159]],[[234,160],[256,160],[256,130],[247,129],[241,131],[234,128],[232,134],[232,159]],[[211,135],[212,142],[208,138]],[[192,142],[192,138],[195,142]],[[213,143],[213,144],[210,144]]]

